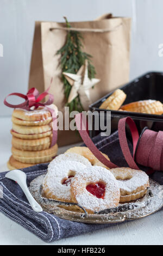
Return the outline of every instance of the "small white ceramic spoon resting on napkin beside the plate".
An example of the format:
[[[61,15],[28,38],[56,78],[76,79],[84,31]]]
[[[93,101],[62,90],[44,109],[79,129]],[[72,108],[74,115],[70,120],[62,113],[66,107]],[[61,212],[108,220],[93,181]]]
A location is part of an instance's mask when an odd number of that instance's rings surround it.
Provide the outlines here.
[[[5,177],[17,182],[17,184],[22,188],[22,191],[26,195],[26,197],[29,201],[29,204],[34,211],[36,211],[36,212],[42,211],[42,207],[40,206],[40,204],[38,204],[36,202],[36,200],[33,198],[32,194],[28,190],[26,173],[22,172],[21,170],[10,170],[10,172],[8,172],[5,175]]]

